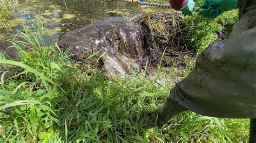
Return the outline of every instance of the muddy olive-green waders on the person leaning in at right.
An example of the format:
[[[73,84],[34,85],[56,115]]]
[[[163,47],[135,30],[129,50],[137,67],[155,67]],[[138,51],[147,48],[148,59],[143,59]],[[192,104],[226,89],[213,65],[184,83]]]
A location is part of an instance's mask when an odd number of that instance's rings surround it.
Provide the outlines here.
[[[251,118],[250,142],[256,141],[256,1],[239,3],[240,20],[230,37],[208,47],[191,73],[171,90],[158,109],[159,126],[186,110]]]

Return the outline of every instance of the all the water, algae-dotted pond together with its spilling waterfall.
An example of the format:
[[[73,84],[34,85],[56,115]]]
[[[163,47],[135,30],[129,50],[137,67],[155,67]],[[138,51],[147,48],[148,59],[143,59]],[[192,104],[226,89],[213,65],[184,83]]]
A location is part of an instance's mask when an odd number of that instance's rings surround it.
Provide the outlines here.
[[[145,5],[103,0],[32,0],[19,1],[14,18],[1,17],[0,50],[12,55],[6,39],[14,37],[23,28],[36,25],[41,18],[44,34],[59,39],[63,49],[71,47],[75,60],[100,51],[102,69],[114,76],[139,70],[143,48],[139,40],[137,19],[152,11]]]

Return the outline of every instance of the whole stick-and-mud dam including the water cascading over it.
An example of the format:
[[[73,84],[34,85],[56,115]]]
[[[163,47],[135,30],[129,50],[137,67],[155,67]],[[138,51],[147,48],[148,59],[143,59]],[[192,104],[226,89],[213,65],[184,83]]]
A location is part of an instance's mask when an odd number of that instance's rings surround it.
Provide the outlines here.
[[[192,55],[180,38],[185,34],[183,29],[182,17],[174,11],[132,20],[112,17],[63,35],[59,47],[68,50],[76,62],[97,52],[91,64],[110,76],[129,74],[132,70],[143,71],[146,66],[156,67],[160,60],[169,67],[173,59],[182,63],[184,55]]]

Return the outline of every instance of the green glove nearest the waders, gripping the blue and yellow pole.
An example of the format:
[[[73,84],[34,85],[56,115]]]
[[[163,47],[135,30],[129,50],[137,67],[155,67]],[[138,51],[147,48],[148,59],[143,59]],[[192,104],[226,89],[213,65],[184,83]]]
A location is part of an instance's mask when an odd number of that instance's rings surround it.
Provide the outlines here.
[[[200,8],[203,8],[205,10],[202,12],[198,12],[199,15],[203,15],[208,18],[215,18],[225,11],[237,9],[238,2],[237,0],[205,0],[200,5]],[[214,9],[218,9],[220,11],[218,15],[214,14]]]

